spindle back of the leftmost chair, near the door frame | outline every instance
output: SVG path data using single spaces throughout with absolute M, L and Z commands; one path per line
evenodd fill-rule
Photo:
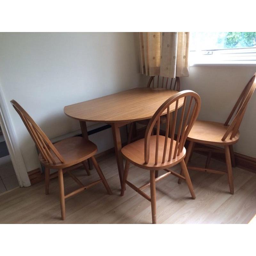
M 36 147 L 41 153 L 44 161 L 49 164 L 56 164 L 56 158 L 54 157 L 55 155 L 61 163 L 64 163 L 63 157 L 53 146 L 52 142 L 48 139 L 41 128 L 36 124 L 36 122 L 28 115 L 28 113 L 20 106 L 19 103 L 17 103 L 15 100 L 11 100 L 11 103 L 14 109 L 18 112 L 26 128 L 28 129 L 28 132 L 34 140 Z

